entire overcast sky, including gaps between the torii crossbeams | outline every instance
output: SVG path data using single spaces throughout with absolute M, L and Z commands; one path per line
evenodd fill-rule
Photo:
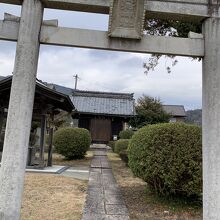
M 20 7 L 0 3 L 4 12 L 20 15 Z M 58 19 L 59 26 L 107 30 L 108 16 L 90 13 L 45 10 L 44 19 Z M 0 75 L 13 71 L 16 44 L 0 41 Z M 201 108 L 202 63 L 177 57 L 178 64 L 168 74 L 170 59 L 162 58 L 155 71 L 144 74 L 148 54 L 109 52 L 68 47 L 41 46 L 37 77 L 67 87 L 74 87 L 74 74 L 80 80 L 78 89 L 134 93 L 159 97 L 164 104 Z

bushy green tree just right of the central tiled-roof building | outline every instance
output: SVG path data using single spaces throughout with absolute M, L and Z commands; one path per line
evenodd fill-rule
M 164 111 L 160 99 L 143 95 L 137 100 L 135 110 L 137 115 L 130 120 L 132 127 L 169 122 L 170 115 Z

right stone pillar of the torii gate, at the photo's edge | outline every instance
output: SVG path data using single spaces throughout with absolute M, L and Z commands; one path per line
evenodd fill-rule
M 220 218 L 220 19 L 203 26 L 203 219 Z

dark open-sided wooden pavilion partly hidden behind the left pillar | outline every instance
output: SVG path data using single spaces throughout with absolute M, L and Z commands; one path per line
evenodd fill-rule
M 9 97 L 11 90 L 12 76 L 0 78 L 0 135 L 4 133 L 5 119 L 7 117 L 7 109 L 9 105 Z M 22 86 L 22 85 L 21 85 Z M 74 105 L 68 95 L 55 91 L 47 87 L 44 83 L 37 80 L 35 99 L 33 107 L 32 121 L 38 123 L 41 127 L 40 132 L 40 149 L 38 158 L 35 157 L 35 148 L 32 146 L 32 133 L 30 135 L 29 155 L 27 164 L 35 165 L 36 167 L 44 167 L 52 165 L 52 137 L 54 117 L 60 112 L 66 111 L 71 113 L 74 110 Z M 49 134 L 48 161 L 45 163 L 45 135 Z M 1 135 L 0 137 L 3 137 Z M 0 140 L 1 141 L 1 140 Z

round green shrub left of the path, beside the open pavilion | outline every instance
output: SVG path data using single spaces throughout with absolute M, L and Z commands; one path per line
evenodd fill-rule
M 91 144 L 91 136 L 83 128 L 61 128 L 54 133 L 53 144 L 56 152 L 67 159 L 83 158 Z

